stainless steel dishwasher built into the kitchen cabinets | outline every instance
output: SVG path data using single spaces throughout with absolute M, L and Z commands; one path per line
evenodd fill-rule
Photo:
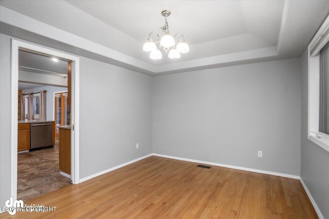
M 31 149 L 52 146 L 52 123 L 31 123 Z

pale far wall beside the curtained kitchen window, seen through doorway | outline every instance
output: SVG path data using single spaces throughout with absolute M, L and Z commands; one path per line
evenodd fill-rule
M 23 90 L 23 93 L 35 93 L 39 92 L 41 90 L 46 90 L 47 91 L 47 97 L 46 97 L 46 119 L 47 120 L 54 120 L 54 96 L 53 94 L 55 92 L 60 92 L 60 91 L 67 91 L 67 88 L 64 87 L 54 87 L 54 86 L 41 86 L 38 88 L 33 88 L 33 89 L 28 89 L 28 90 Z M 25 112 L 27 113 L 27 112 Z

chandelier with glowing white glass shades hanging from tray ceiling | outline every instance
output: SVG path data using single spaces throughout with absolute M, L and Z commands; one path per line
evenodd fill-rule
M 152 59 L 161 59 L 162 54 L 160 49 L 162 48 L 168 53 L 169 58 L 180 58 L 180 53 L 187 53 L 189 51 L 189 45 L 185 42 L 184 36 L 181 33 L 176 33 L 172 36 L 169 32 L 169 26 L 167 22 L 167 17 L 171 14 L 169 10 L 161 11 L 161 15 L 165 17 L 165 26 L 160 27 L 163 32 L 163 35 L 160 39 L 159 34 L 156 32 L 151 32 L 147 41 L 144 43 L 143 50 L 145 52 L 150 52 L 150 58 Z M 151 38 L 151 34 L 156 34 L 158 37 L 155 42 Z M 154 35 L 153 34 L 153 35 Z M 175 37 L 180 35 L 182 38 L 179 43 L 175 41 Z

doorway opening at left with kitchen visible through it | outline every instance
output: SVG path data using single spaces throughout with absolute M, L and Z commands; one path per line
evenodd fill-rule
M 61 141 L 54 136 L 52 99 L 55 92 L 67 93 L 67 79 L 67 61 L 19 51 L 17 200 L 29 201 L 71 184 L 70 175 L 63 176 L 59 167 Z M 71 147 L 70 143 L 66 146 Z M 66 153 L 61 160 L 69 156 Z

